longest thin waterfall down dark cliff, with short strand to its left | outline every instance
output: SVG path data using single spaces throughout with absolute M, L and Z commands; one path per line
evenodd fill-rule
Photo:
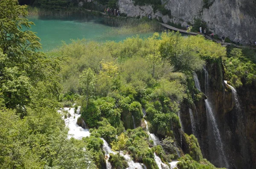
M 209 90 L 209 88 L 208 88 L 208 82 L 209 82 L 208 72 L 205 68 L 203 70 L 204 70 L 205 78 L 207 78 L 207 79 L 205 79 L 205 95 L 209 98 L 209 96 L 208 96 L 208 94 L 209 94 L 208 93 L 208 90 Z M 198 90 L 201 91 L 200 83 L 199 83 L 198 76 L 196 75 L 196 73 L 194 73 L 194 79 L 195 79 L 195 86 L 197 87 Z M 211 124 L 212 130 L 213 130 L 213 131 L 209 131 L 209 132 L 213 132 L 213 135 L 215 138 L 216 149 L 219 154 L 218 155 L 219 161 L 222 162 L 225 165 L 225 167 L 228 167 L 229 163 L 228 163 L 226 155 L 224 153 L 223 143 L 221 141 L 221 135 L 218 130 L 218 124 L 216 123 L 216 120 L 215 120 L 215 117 L 213 114 L 213 108 L 212 108 L 212 105 L 211 105 L 209 99 L 205 99 L 205 105 L 206 105 L 206 113 L 207 113 L 207 123 L 208 123 L 208 125 Z M 208 128 L 208 130 L 209 130 L 209 128 Z

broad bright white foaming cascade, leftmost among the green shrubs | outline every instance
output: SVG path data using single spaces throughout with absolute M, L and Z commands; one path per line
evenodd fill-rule
M 68 138 L 73 137 L 73 138 L 81 140 L 83 137 L 90 136 L 90 132 L 88 129 L 83 129 L 82 127 L 80 127 L 79 125 L 76 124 L 77 119 L 80 117 L 80 115 L 79 115 L 80 109 L 81 109 L 81 107 L 78 107 L 77 114 L 75 114 L 74 108 L 64 107 L 64 110 L 66 110 L 70 114 L 70 117 L 68 116 L 67 118 L 64 118 L 64 116 L 63 116 L 65 125 L 66 125 L 66 127 L 69 128 Z

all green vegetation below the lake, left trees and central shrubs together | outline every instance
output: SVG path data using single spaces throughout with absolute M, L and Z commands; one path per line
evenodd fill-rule
M 234 86 L 255 81 L 254 51 L 234 48 L 226 57 L 220 44 L 174 32 L 122 42 L 82 39 L 44 54 L 38 51 L 39 38 L 28 30 L 33 23 L 26 19 L 26 6 L 2 0 L 0 8 L 3 169 L 105 168 L 101 138 L 115 151 L 109 158 L 113 168 L 127 167 L 125 154 L 148 169 L 158 168 L 154 154 L 169 165 L 182 152 L 177 147 L 180 104 L 197 99 L 193 72 L 223 58 Z M 81 105 L 79 121 L 90 128 L 90 137 L 68 139 L 57 110 L 73 103 L 75 110 Z M 161 138 L 157 145 L 148 132 Z M 195 136 L 182 135 L 187 154 L 178 167 L 215 168 L 203 159 Z

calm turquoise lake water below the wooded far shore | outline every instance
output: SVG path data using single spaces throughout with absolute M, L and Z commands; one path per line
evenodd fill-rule
M 98 42 L 113 40 L 119 42 L 135 34 L 111 35 L 112 27 L 105 24 L 103 17 L 84 16 L 67 18 L 47 18 L 29 16 L 29 21 L 35 23 L 31 31 L 36 32 L 41 39 L 42 51 L 51 51 L 58 48 L 64 42 L 70 43 L 70 39 L 87 39 Z M 149 37 L 153 33 L 140 34 L 141 37 Z

